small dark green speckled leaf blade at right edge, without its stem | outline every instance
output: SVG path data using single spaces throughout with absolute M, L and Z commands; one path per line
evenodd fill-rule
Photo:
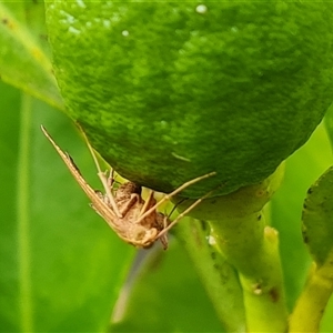
M 333 167 L 309 189 L 302 220 L 304 242 L 322 265 L 333 252 Z

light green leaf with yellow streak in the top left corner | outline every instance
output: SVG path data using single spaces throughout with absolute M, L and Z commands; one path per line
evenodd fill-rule
M 42 4 L 34 6 L 37 13 L 31 6 L 28 8 L 22 7 L 23 4 L 17 2 L 11 8 L 21 20 L 27 17 L 27 20 L 32 18 L 36 21 L 37 14 L 41 14 Z M 44 53 L 46 47 L 42 48 L 36 39 L 37 31 L 40 31 L 38 28 L 40 26 L 34 23 L 30 31 L 6 4 L 0 3 L 1 79 L 58 109 L 63 109 L 50 58 Z M 46 38 L 46 34 L 39 36 Z

